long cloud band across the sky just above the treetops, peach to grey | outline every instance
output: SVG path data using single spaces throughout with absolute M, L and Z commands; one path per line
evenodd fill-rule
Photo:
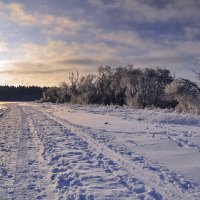
M 119 33 L 119 36 L 121 35 L 122 32 Z M 131 37 L 132 35 L 130 35 Z M 137 48 L 123 47 L 121 44 L 109 46 L 102 42 L 68 44 L 55 40 L 49 40 L 43 45 L 23 44 L 13 51 L 18 59 L 10 61 L 0 73 L 56 75 L 74 69 L 78 69 L 80 72 L 95 72 L 98 66 L 109 64 L 111 66 L 135 64 L 140 67 L 159 65 L 177 69 L 193 65 L 195 58 L 199 57 L 200 42 L 180 42 L 172 49 L 171 46 L 166 47 L 164 44 L 154 44 L 151 40 L 144 41 L 139 36 L 136 38 Z M 117 39 L 117 33 L 115 33 L 114 40 L 118 43 Z M 123 42 L 121 37 L 119 37 L 119 42 Z M 137 53 L 138 51 L 143 51 L 143 53 Z

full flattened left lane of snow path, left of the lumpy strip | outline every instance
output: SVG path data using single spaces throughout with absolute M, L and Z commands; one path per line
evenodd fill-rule
M 42 199 L 51 193 L 41 145 L 30 116 L 21 107 L 9 106 L 1 118 L 0 199 Z M 51 199 L 51 198 L 49 198 Z

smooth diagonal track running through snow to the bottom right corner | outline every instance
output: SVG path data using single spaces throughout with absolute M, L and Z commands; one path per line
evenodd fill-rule
M 160 168 L 160 166 L 157 166 L 157 168 L 153 167 L 153 165 L 147 164 L 148 162 L 144 157 L 142 157 L 144 161 L 139 161 L 141 157 L 136 160 L 129 160 L 117 149 L 112 149 L 105 143 L 98 141 L 92 135 L 89 135 L 88 129 L 84 132 L 83 128 L 77 127 L 68 121 L 58 119 L 44 111 L 43 114 L 57 123 L 62 124 L 64 127 L 68 127 L 71 132 L 86 141 L 99 155 L 107 157 L 111 162 L 114 162 L 118 166 L 117 170 L 125 170 L 129 175 L 121 176 L 121 182 L 128 188 L 130 188 L 131 185 L 131 177 L 139 181 L 142 187 L 138 189 L 138 192 L 141 192 L 142 195 L 138 196 L 138 198 L 198 199 L 199 191 L 197 191 L 196 188 L 193 189 L 192 186 L 190 187 L 189 182 L 182 180 L 182 177 L 179 177 L 171 170 Z M 145 165 L 141 165 L 142 162 L 145 162 Z M 110 164 L 109 167 L 112 168 L 112 164 Z M 111 172 L 114 174 L 117 170 L 114 169 L 111 170 Z M 134 187 L 136 188 L 135 185 Z M 185 187 L 185 190 L 183 187 Z M 137 189 L 135 190 L 135 194 L 137 194 Z

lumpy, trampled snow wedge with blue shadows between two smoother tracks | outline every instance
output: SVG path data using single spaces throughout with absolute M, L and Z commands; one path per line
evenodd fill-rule
M 35 126 L 43 131 L 43 155 L 52 167 L 51 180 L 58 199 L 141 199 L 144 196 L 139 180 L 132 178 L 128 183 L 127 172 L 91 148 L 68 128 L 70 125 L 63 126 L 38 111 L 32 117 Z

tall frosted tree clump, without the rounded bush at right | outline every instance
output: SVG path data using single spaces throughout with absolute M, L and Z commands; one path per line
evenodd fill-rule
M 80 104 L 128 105 L 135 108 L 168 107 L 164 89 L 173 80 L 166 69 L 137 69 L 133 66 L 99 67 L 98 75 L 69 75 L 70 85 L 62 83 L 44 93 L 45 101 Z

